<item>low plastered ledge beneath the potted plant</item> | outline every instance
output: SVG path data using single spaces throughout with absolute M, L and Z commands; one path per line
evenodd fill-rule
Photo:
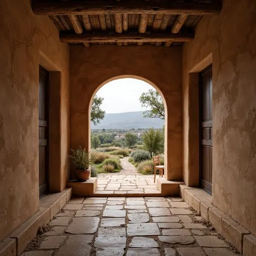
M 72 187 L 72 195 L 74 196 L 91 197 L 97 189 L 97 178 L 90 178 L 84 182 L 69 181 L 68 187 Z

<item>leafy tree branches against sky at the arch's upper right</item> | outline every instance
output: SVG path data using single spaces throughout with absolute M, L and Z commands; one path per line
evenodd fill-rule
M 148 90 L 140 95 L 139 100 L 142 107 L 150 108 L 143 112 L 144 117 L 164 119 L 164 104 L 158 91 Z

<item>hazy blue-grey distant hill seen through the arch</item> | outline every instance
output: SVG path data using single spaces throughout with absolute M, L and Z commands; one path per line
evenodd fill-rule
M 143 111 L 105 114 L 97 125 L 91 123 L 91 129 L 138 129 L 162 128 L 164 120 L 159 118 L 144 118 Z

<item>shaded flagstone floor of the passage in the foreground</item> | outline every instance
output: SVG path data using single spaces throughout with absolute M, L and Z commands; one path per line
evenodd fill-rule
M 75 198 L 50 226 L 23 256 L 236 255 L 181 198 Z

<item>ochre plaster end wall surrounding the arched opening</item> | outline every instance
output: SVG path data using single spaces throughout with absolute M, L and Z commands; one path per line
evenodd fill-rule
M 166 101 L 166 178 L 180 180 L 182 167 L 181 48 L 152 46 L 70 47 L 70 145 L 89 147 L 90 101 L 100 84 L 133 75 L 155 84 Z M 113 92 L 115 93 L 115 92 Z M 124 92 L 125 93 L 125 92 Z M 118 95 L 117 95 L 118 97 Z M 115 102 L 113 102 L 115 104 Z M 116 106 L 118 112 L 118 106 Z

